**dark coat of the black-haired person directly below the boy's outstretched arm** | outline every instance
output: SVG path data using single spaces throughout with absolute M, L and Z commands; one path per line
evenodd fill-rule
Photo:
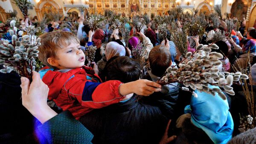
M 93 144 L 157 144 L 167 125 L 158 107 L 136 98 L 95 109 L 79 121 L 93 133 Z

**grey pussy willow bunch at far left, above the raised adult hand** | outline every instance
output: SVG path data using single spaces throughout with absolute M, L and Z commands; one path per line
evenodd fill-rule
M 10 22 L 12 43 L 7 40 L 0 41 L 0 65 L 3 65 L 1 73 L 10 73 L 15 70 L 20 76 L 32 80 L 32 71 L 37 65 L 35 58 L 38 57 L 38 46 L 41 45 L 40 38 L 34 35 L 17 36 L 15 20 Z M 23 33 L 23 31 L 21 31 Z M 20 31 L 19 31 L 20 33 Z M 20 34 L 18 34 L 20 35 Z

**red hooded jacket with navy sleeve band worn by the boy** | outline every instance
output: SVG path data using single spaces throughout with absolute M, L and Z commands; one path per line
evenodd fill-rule
M 69 110 L 76 119 L 95 108 L 118 103 L 125 97 L 119 93 L 120 81 L 101 83 L 99 76 L 87 66 L 66 72 L 45 67 L 39 73 L 49 87 L 48 99 L 63 110 Z

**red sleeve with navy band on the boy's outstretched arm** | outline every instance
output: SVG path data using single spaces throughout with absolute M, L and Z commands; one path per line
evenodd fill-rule
M 65 90 L 68 83 L 64 85 Z M 116 80 L 98 83 L 80 79 L 72 82 L 67 91 L 69 96 L 77 99 L 84 107 L 102 108 L 118 103 L 125 97 L 119 94 L 120 84 L 122 82 Z

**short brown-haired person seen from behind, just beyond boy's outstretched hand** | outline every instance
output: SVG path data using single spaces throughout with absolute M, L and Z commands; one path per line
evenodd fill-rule
M 148 71 L 145 79 L 156 82 L 163 76 L 166 69 L 172 65 L 172 56 L 169 49 L 164 45 L 157 45 L 150 51 L 148 61 L 151 70 Z M 160 107 L 160 110 L 168 119 L 173 119 L 179 93 L 178 86 L 177 82 L 172 83 L 172 85 L 164 85 L 159 93 L 145 97 L 143 101 Z

